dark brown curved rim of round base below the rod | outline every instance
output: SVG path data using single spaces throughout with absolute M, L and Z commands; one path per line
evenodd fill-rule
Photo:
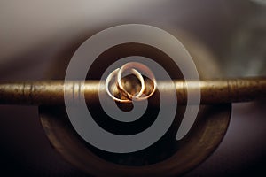
M 201 106 L 190 133 L 176 142 L 176 152 L 158 163 L 141 166 L 119 165 L 99 158 L 74 131 L 64 108 L 40 107 L 39 111 L 55 150 L 84 172 L 93 176 L 176 176 L 199 165 L 222 142 L 231 117 L 231 104 Z M 168 152 L 167 147 L 172 144 L 169 142 L 161 155 Z

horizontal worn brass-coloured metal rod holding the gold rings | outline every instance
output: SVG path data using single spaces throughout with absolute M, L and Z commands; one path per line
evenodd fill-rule
M 170 83 L 171 81 L 157 81 L 157 89 L 168 93 L 171 90 Z M 200 82 L 176 80 L 174 84 L 178 104 L 186 104 L 187 90 L 194 89 L 200 89 L 200 104 L 246 102 L 266 97 L 266 78 L 206 80 Z M 151 89 L 153 86 L 147 82 L 145 87 Z M 113 93 L 116 91 L 113 90 Z M 104 81 L 0 82 L 0 104 L 65 104 L 64 93 L 69 93 L 69 97 L 72 97 L 76 102 L 84 97 L 86 102 L 93 104 L 98 103 L 99 92 L 106 92 Z M 158 104 L 156 99 L 155 101 L 154 99 L 151 100 L 152 104 Z

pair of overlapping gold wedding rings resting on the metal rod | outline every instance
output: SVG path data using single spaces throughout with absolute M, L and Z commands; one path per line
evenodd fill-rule
M 145 95 L 145 79 L 143 78 L 142 74 L 139 73 L 145 73 L 145 75 L 153 81 L 153 90 L 146 96 Z M 127 91 L 124 86 L 121 83 L 121 79 L 123 76 L 123 73 L 129 72 L 128 74 L 134 74 L 137 79 L 140 81 L 141 89 L 138 91 L 137 94 L 132 95 Z M 126 99 L 121 99 L 116 96 L 113 96 L 113 94 L 110 92 L 109 85 L 112 79 L 115 77 L 115 86 L 120 91 L 122 96 L 125 96 Z M 155 80 L 153 72 L 146 66 L 141 63 L 137 62 L 129 62 L 125 65 L 122 65 L 121 68 L 115 69 L 112 73 L 108 75 L 106 78 L 106 92 L 109 96 L 113 98 L 114 101 L 120 102 L 120 103 L 131 103 L 132 101 L 141 101 L 148 99 L 150 96 L 153 96 L 153 93 L 156 90 L 157 82 Z

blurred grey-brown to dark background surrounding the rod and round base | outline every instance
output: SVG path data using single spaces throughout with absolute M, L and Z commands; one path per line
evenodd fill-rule
M 0 0 L 0 80 L 46 79 L 57 58 L 72 54 L 69 46 L 126 23 L 181 36 L 211 58 L 219 72 L 209 78 L 265 76 L 265 21 L 264 0 Z M 265 101 L 233 104 L 223 142 L 185 176 L 265 175 L 265 110 Z M 0 120 L 1 173 L 86 176 L 51 148 L 37 107 L 1 105 Z

